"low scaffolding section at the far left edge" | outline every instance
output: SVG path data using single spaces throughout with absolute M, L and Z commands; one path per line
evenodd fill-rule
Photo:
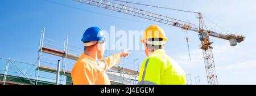
M 29 69 L 27 69 L 29 68 Z M 34 85 L 36 80 L 36 63 L 25 63 L 11 58 L 0 58 L 0 84 L 1 85 Z M 54 76 L 54 75 L 53 75 Z M 53 78 L 39 76 L 38 85 L 54 84 Z

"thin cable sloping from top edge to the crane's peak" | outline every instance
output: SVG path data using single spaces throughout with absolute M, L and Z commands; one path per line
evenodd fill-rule
M 175 8 L 168 8 L 168 7 L 161 7 L 161 6 L 146 5 L 146 4 L 143 4 L 143 3 L 135 3 L 135 2 L 121 1 L 121 0 L 113 0 L 113 1 L 119 1 L 119 2 L 125 2 L 125 3 L 132 3 L 132 4 L 135 4 L 135 5 L 143 5 L 143 6 L 150 6 L 150 7 L 156 7 L 156 8 L 164 8 L 164 9 L 175 10 L 175 11 L 191 12 L 191 13 L 194 13 L 194 14 L 199 14 L 199 13 L 200 13 L 200 12 L 195 12 L 195 11 L 178 10 L 178 9 L 175 9 Z

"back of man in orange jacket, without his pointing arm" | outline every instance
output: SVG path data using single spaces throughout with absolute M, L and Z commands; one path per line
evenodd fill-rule
M 100 68 L 98 63 L 89 56 L 82 54 L 79 60 L 72 68 L 72 80 L 75 85 L 93 85 L 107 84 L 110 85 L 108 75 L 105 68 Z

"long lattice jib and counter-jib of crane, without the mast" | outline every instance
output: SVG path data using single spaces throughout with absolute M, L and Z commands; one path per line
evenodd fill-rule
M 103 0 L 73 0 L 73 1 L 77 1 L 80 3 L 86 3 L 86 4 L 92 5 L 92 6 L 106 8 L 108 10 L 122 12 L 123 14 L 129 14 L 129 15 L 137 16 L 139 18 L 153 20 L 153 21 L 157 21 L 159 23 L 172 25 L 175 27 L 179 27 L 181 29 L 192 30 L 194 32 L 200 33 L 199 27 L 197 27 L 197 25 L 195 25 L 195 24 L 188 23 L 187 21 L 170 18 L 168 16 L 163 16 L 163 15 L 155 14 L 152 12 L 144 11 L 144 10 L 141 10 L 138 8 L 121 5 L 121 4 L 106 1 L 106 0 L 104 0 L 104 1 Z M 236 39 L 236 41 L 239 43 L 242 42 L 243 40 L 245 40 L 245 37 L 236 36 L 234 34 L 222 34 L 222 33 L 213 32 L 212 30 L 207 30 L 206 32 L 209 33 L 209 36 L 222 38 L 224 40 Z

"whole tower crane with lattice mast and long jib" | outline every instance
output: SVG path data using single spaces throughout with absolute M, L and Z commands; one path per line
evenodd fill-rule
M 222 33 L 214 32 L 212 30 L 208 30 L 204 23 L 203 15 L 201 14 L 201 12 L 196 12 L 196 14 L 198 14 L 199 16 L 199 26 L 197 26 L 196 24 L 192 24 L 187 21 L 170 18 L 168 16 L 155 14 L 153 12 L 122 5 L 112 1 L 107 1 L 107 0 L 73 0 L 73 1 L 96 6 L 96 7 L 106 8 L 108 10 L 121 12 L 123 14 L 137 16 L 139 18 L 144 18 L 144 19 L 156 21 L 159 23 L 171 25 L 174 27 L 179 27 L 184 30 L 192 30 L 193 32 L 197 32 L 199 34 L 199 40 L 201 41 L 200 49 L 203 50 L 205 70 L 207 72 L 207 80 L 209 85 L 218 84 L 218 79 L 216 75 L 215 64 L 214 64 L 214 59 L 212 54 L 213 47 L 211 46 L 213 42 L 210 42 L 209 36 L 221 38 L 223 40 L 228 40 L 230 42 L 230 46 L 236 46 L 237 42 L 240 43 L 243 40 L 245 40 L 244 36 L 235 35 L 235 34 L 222 34 Z

